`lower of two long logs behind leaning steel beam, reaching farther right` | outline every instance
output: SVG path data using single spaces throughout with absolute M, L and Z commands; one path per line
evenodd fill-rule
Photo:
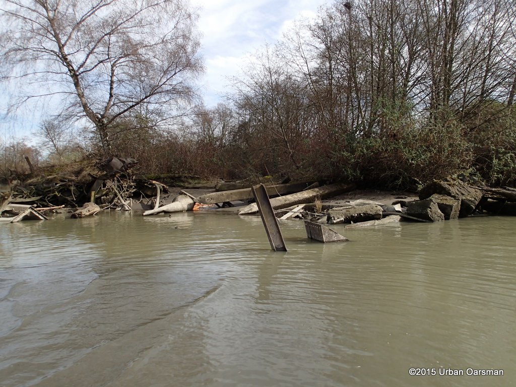
M 270 204 L 274 209 L 289 207 L 295 204 L 303 204 L 315 199 L 328 198 L 339 193 L 351 191 L 356 187 L 354 183 L 335 183 L 324 187 L 313 188 L 306 191 L 292 193 L 291 195 L 281 196 L 279 198 L 270 199 Z M 249 204 L 238 212 L 238 215 L 255 214 L 258 212 L 256 203 Z

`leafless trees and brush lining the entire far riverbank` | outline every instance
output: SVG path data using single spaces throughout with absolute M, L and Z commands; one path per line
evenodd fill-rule
M 63 87 L 52 92 L 63 110 L 40 124 L 41 147 L 0 142 L 4 183 L 45 207 L 93 201 L 95 181 L 105 205 L 183 176 L 411 192 L 446 176 L 516 184 L 510 0 L 337 0 L 257 52 L 215 107 L 196 94 L 201 40 L 181 2 L 6 3 L 2 81 Z M 22 94 L 9 110 L 33 95 Z M 102 169 L 113 155 L 138 160 L 141 177 Z

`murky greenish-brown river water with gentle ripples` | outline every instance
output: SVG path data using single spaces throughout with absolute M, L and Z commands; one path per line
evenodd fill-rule
M 515 218 L 281 228 L 286 253 L 255 216 L 0 224 L 0 385 L 516 385 Z

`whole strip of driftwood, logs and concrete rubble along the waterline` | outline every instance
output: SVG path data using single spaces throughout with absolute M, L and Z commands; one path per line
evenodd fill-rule
M 142 212 L 143 216 L 184 211 L 256 214 L 259 209 L 251 187 L 257 184 L 265 186 L 276 217 L 320 224 L 352 227 L 399 220 L 436 222 L 480 214 L 516 215 L 515 188 L 488 187 L 464 174 L 433 180 L 417 194 L 391 191 L 378 197 L 374 190 L 365 190 L 358 198 L 356 183 L 279 182 L 272 176 L 240 182 L 188 182 L 183 176 L 181 189 L 135 175 L 132 168 L 138 164 L 133 158 L 112 157 L 100 165 L 83 161 L 79 169 L 68 166 L 66 173 L 42 173 L 25 181 L 11 181 L 12 186 L 0 198 L 0 219 L 43 220 L 52 213 L 83 218 L 109 209 Z

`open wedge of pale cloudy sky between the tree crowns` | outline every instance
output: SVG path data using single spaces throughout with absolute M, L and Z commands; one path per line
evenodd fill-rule
M 238 75 L 246 56 L 274 44 L 296 19 L 314 17 L 330 0 L 190 0 L 198 7 L 206 72 L 201 92 L 206 106 L 220 101 L 227 77 Z

